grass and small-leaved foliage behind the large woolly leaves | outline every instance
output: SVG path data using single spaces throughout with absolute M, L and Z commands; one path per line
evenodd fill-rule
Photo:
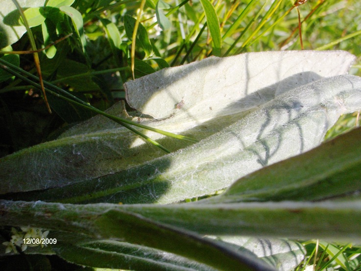
M 0 11 L 13 5 L 11 1 L 5 3 Z M 293 1 L 214 1 L 217 16 L 209 3 L 145 2 L 136 38 L 136 78 L 212 54 L 301 49 Z M 39 53 L 43 78 L 101 110 L 124 99 L 122 85 L 132 79 L 130 50 L 140 5 L 140 1 L 132 0 L 49 0 L 47 7 L 28 11 L 34 19 L 29 24 L 37 48 L 72 33 L 55 47 Z M 357 56 L 351 74 L 361 75 L 360 10 L 357 0 L 310 0 L 300 5 L 304 48 L 347 50 Z M 10 7 L 10 11 L 11 14 L 4 14 L 3 22 L 19 26 L 16 7 Z M 1 38 L 0 42 L 4 50 L 30 49 L 27 35 L 6 42 Z M 32 54 L 3 57 L 36 74 Z M 54 139 L 68 127 L 93 116 L 90 111 L 51 96 L 48 101 L 54 112 L 48 114 L 41 96 L 39 90 L 0 70 L 0 156 Z M 357 113 L 343 116 L 327 137 L 358 122 Z M 330 265 L 360 269 L 359 262 L 351 260 L 359 248 L 322 243 L 320 250 L 327 253 L 317 254 L 314 242 L 305 244 L 309 259 L 313 260 L 314 255 L 320 267 L 328 257 L 326 263 Z M 331 248 L 338 252 L 332 254 Z

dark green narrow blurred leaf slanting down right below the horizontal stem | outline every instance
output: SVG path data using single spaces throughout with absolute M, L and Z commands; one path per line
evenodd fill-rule
M 273 270 L 258 259 L 234 251 L 220 242 L 212 242 L 193 232 L 153 222 L 136 214 L 110 210 L 96 219 L 95 225 L 107 231 L 110 237 L 125 237 L 127 242 L 163 249 L 221 270 Z

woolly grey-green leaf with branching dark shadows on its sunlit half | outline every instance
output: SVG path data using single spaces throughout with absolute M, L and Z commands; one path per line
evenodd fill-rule
M 361 99 L 360 77 L 321 79 L 277 96 L 188 148 L 37 196 L 50 200 L 64 194 L 69 202 L 170 203 L 210 194 L 317 146 L 340 114 L 360 107 L 350 97 Z

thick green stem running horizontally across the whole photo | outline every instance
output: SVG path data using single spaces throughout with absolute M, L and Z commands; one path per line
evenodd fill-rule
M 79 244 L 80 242 L 84 244 L 86 238 L 93 241 L 99 238 L 116 237 L 120 241 L 145 246 L 136 239 L 150 235 L 147 234 L 148 231 L 145 228 L 144 231 L 137 231 L 142 226 L 147 227 L 147 222 L 150 222 L 149 227 L 152 231 L 158 226 L 170 225 L 173 229 L 192 231 L 200 235 L 333 239 L 343 242 L 361 240 L 361 200 L 352 197 L 350 200 L 323 202 L 207 204 L 206 201 L 203 203 L 202 201 L 197 204 L 120 205 L 62 204 L 1 199 L 0 225 L 31 225 L 50 229 L 51 232 L 54 229 L 72 234 L 81 233 L 83 236 L 79 236 L 81 237 Z M 133 225 L 137 225 L 137 228 L 133 228 Z M 168 228 L 168 230 L 171 229 Z M 137 236 L 140 232 L 142 236 Z M 64 238 L 63 240 L 66 241 Z M 75 238 L 69 239 L 68 236 L 68 242 L 76 244 L 75 241 Z M 160 238 L 156 242 L 161 242 Z M 174 245 L 174 242 L 172 244 Z M 176 252 L 173 251 L 173 253 Z

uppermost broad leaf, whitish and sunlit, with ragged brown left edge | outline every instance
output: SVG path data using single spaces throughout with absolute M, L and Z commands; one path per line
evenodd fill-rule
M 354 59 L 344 51 L 255 52 L 208 57 L 127 82 L 127 101 L 155 119 L 184 112 L 183 122 L 209 120 L 232 115 L 234 111 L 246 112 L 322 77 L 347 74 Z M 184 105 L 180 110 L 175 105 L 182 99 Z

